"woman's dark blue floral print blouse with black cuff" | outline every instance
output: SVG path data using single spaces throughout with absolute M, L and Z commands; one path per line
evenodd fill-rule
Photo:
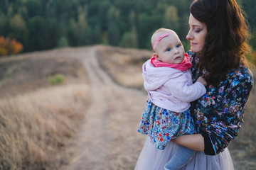
M 188 55 L 193 64 L 191 72 L 194 83 L 201 76 L 196 69 L 198 57 L 191 51 Z M 241 65 L 239 69 L 230 70 L 226 79 L 220 81 L 218 86 L 206 86 L 206 94 L 191 103 L 191 115 L 195 120 L 196 128 L 210 139 L 208 141 L 215 152 L 213 154 L 222 152 L 230 140 L 238 135 L 252 84 L 252 72 Z M 205 135 L 203 137 L 206 141 Z

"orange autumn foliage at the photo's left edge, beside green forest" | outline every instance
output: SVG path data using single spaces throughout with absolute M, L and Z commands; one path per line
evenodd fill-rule
M 0 56 L 15 55 L 21 50 L 23 50 L 23 45 L 20 42 L 0 36 Z

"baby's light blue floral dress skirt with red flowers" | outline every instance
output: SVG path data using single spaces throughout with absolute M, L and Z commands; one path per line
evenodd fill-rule
M 164 149 L 180 135 L 196 134 L 196 128 L 189 109 L 182 113 L 169 111 L 147 97 L 138 132 L 148 135 L 157 149 Z

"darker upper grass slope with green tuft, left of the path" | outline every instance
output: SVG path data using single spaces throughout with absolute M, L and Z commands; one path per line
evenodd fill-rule
M 68 52 L 67 52 L 68 53 Z M 57 75 L 61 75 L 56 77 Z M 0 95 L 26 94 L 51 84 L 85 82 L 85 69 L 61 51 L 33 52 L 0 59 Z M 53 77 L 50 81 L 49 77 Z

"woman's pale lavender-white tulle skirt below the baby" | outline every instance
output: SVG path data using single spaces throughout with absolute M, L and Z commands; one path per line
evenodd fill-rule
M 156 149 L 151 144 L 150 138 L 146 137 L 146 142 L 139 154 L 139 159 L 135 170 L 163 170 L 166 162 L 171 159 L 176 152 L 178 145 L 169 142 L 164 150 Z M 196 152 L 191 162 L 183 166 L 180 170 L 234 170 L 230 152 L 226 148 L 215 156 L 206 155 L 203 152 Z

